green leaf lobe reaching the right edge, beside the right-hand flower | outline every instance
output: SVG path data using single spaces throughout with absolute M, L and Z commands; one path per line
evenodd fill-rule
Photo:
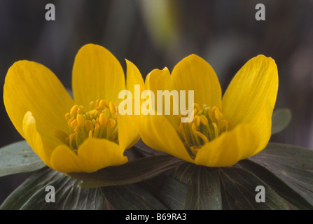
M 313 205 L 313 151 L 286 144 L 267 144 L 249 160 L 265 167 Z M 286 192 L 283 192 L 286 194 Z

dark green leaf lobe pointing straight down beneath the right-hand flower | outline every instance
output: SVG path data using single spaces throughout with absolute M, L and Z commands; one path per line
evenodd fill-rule
M 195 166 L 191 174 L 184 209 L 222 209 L 220 180 L 216 168 Z

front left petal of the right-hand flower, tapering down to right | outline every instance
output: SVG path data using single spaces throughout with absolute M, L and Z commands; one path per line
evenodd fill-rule
M 147 146 L 174 155 L 176 158 L 193 162 L 176 130 L 165 116 L 141 116 L 139 133 Z

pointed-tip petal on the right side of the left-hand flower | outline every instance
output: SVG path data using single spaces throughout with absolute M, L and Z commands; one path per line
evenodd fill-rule
M 122 148 L 130 148 L 139 140 L 139 118 L 141 109 L 141 92 L 144 91 L 144 79 L 140 71 L 132 62 L 126 60 L 127 64 L 127 90 L 132 93 L 133 110 L 132 115 L 120 115 L 118 113 L 118 143 Z M 135 89 L 139 85 L 140 89 Z M 136 91 L 135 91 L 136 90 Z M 138 111 L 135 111 L 137 109 Z M 136 113 L 135 113 L 136 112 Z M 137 114 L 137 112 L 139 112 Z

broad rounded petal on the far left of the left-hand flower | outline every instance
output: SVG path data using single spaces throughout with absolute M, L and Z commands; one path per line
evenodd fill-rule
M 55 74 L 36 62 L 15 62 L 6 75 L 4 105 L 13 125 L 22 137 L 22 121 L 32 111 L 39 132 L 53 136 L 53 130 L 67 130 L 64 114 L 73 100 Z M 53 141 L 53 140 L 52 140 Z

